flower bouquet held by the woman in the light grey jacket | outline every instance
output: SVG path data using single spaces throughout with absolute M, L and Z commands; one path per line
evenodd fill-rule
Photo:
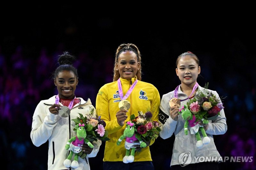
M 195 97 L 190 99 L 187 106 L 192 114 L 195 115 L 196 120 L 215 120 L 220 111 L 224 108 L 222 99 L 225 97 L 218 98 L 208 91 L 209 83 L 206 83 L 204 90 L 197 91 Z

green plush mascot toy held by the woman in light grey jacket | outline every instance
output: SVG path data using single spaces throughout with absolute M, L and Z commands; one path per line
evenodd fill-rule
M 210 143 L 210 138 L 206 135 L 204 128 L 199 127 L 199 124 L 196 121 L 195 115 L 190 112 L 187 105 L 182 106 L 182 109 L 179 111 L 179 114 L 181 114 L 181 117 L 185 120 L 185 124 L 184 124 L 185 135 L 188 135 L 188 125 L 190 126 L 190 133 L 196 134 L 197 148 L 202 148 L 204 144 Z M 209 123 L 209 121 L 204 119 L 203 123 L 207 124 Z M 203 134 L 203 137 L 204 137 L 203 141 L 201 140 L 198 129 L 200 129 L 200 131 Z

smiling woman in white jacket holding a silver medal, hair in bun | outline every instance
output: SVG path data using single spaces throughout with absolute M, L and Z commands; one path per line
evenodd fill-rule
M 75 96 L 78 84 L 78 74 L 72 65 L 75 57 L 68 52 L 60 55 L 58 62 L 60 66 L 53 74 L 54 84 L 58 89 L 58 95 L 48 100 L 42 100 L 37 105 L 33 115 L 31 140 L 35 146 L 40 146 L 49 141 L 48 149 L 48 169 L 67 169 L 63 165 L 68 157 L 69 151 L 65 149 L 68 140 L 76 135 L 73 131 L 74 121 L 79 117 L 78 113 L 88 115 L 94 109 L 90 99 L 84 101 L 83 98 Z M 96 115 L 95 109 L 94 114 Z M 93 142 L 93 148 L 83 144 L 82 151 L 87 154 L 86 158 L 78 158 L 79 169 L 90 169 L 89 159 L 95 157 L 99 151 L 101 141 Z M 72 166 L 72 165 L 71 165 Z M 71 169 L 73 169 L 71 167 Z

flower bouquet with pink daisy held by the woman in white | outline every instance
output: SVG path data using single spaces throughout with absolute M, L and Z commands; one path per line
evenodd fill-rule
M 97 141 L 100 139 L 101 141 L 108 141 L 109 138 L 108 132 L 105 131 L 106 122 L 104 120 L 100 119 L 100 116 L 94 114 L 94 108 L 90 109 L 90 112 L 88 115 L 84 116 L 81 113 L 78 113 L 79 117 L 77 119 L 72 119 L 75 122 L 75 125 L 84 124 L 84 129 L 86 130 L 86 139 L 88 139 L 90 142 Z M 76 129 L 73 129 L 76 131 Z M 86 157 L 86 153 L 83 151 L 79 152 L 78 155 L 81 158 Z

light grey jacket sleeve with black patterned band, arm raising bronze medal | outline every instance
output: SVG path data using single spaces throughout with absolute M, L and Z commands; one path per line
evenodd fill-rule
M 159 119 L 161 119 L 159 121 L 160 129 L 161 129 L 159 135 L 163 139 L 167 139 L 172 136 L 173 132 L 175 131 L 177 122 L 178 122 L 171 118 L 169 110 L 170 110 L 169 98 L 166 94 L 166 95 L 163 95 L 163 97 L 162 97 L 162 100 L 160 103 L 160 111 L 159 111 L 160 112 Z

